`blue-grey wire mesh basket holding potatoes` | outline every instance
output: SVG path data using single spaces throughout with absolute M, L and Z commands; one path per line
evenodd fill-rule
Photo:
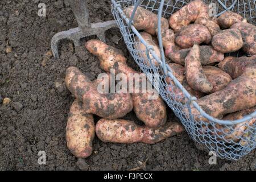
M 158 88 L 160 96 L 166 101 L 168 106 L 179 117 L 190 137 L 197 143 L 201 143 L 209 151 L 216 152 L 222 159 L 238 160 L 248 154 L 256 147 L 256 111 L 246 113 L 241 119 L 236 121 L 220 120 L 213 118 L 197 104 L 196 98 L 185 90 L 183 85 L 172 74 L 172 69 L 166 64 L 165 59 L 158 57 L 150 45 L 142 38 L 140 32 L 133 26 L 132 21 L 126 18 L 123 9 L 128 6 L 141 6 L 144 9 L 169 18 L 181 7 L 186 5 L 189 0 L 112 0 L 112 13 L 123 35 L 123 39 L 133 56 L 136 63 L 146 74 L 157 74 L 159 79 L 154 76 L 148 77 L 155 88 Z M 233 11 L 243 15 L 249 23 L 255 25 L 256 1 L 255 0 L 218 0 L 205 1 L 207 4 L 215 3 L 217 8 L 216 16 L 225 11 Z M 160 15 L 159 15 L 160 14 Z M 159 21 L 160 22 L 160 21 Z M 160 27 L 160 23 L 158 24 Z M 139 44 L 144 44 L 146 51 L 140 49 Z M 160 39 L 159 46 L 162 47 Z M 147 60 L 142 55 L 147 55 Z M 151 54 L 151 56 L 149 56 Z M 164 57 L 164 56 L 161 56 Z M 159 64 L 152 63 L 156 60 Z M 173 81 L 168 82 L 170 78 Z M 179 88 L 183 94 L 173 92 L 174 88 Z M 199 114 L 192 114 L 191 109 L 196 109 Z

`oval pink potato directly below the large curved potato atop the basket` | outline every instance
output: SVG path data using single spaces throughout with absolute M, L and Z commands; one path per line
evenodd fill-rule
M 212 35 L 207 27 L 201 24 L 190 24 L 176 33 L 175 43 L 181 48 L 192 47 L 193 44 L 210 43 Z

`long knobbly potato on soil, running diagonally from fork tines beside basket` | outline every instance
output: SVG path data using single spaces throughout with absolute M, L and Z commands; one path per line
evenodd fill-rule
M 113 51 L 113 55 L 115 56 L 106 56 L 106 51 L 104 50 L 113 48 L 101 42 L 100 40 L 89 40 L 86 42 L 85 47 L 89 52 L 93 53 L 93 55 L 96 55 L 98 59 L 100 59 L 101 68 L 106 72 L 110 72 L 110 69 L 114 69 L 116 74 L 125 74 L 127 80 L 129 80 L 130 73 L 138 75 L 140 74 L 134 71 L 132 68 L 128 67 L 125 57 L 122 56 L 122 54 L 118 54 L 120 51 Z M 118 59 L 115 59 L 115 57 L 118 57 Z M 122 59 L 120 57 L 122 57 Z M 143 74 L 142 77 L 146 77 L 146 75 Z M 131 94 L 131 97 L 134 101 L 133 109 L 137 117 L 141 119 L 141 121 L 144 122 L 148 127 L 158 127 L 164 125 L 164 123 L 166 123 L 167 112 L 162 98 L 160 98 L 158 95 L 155 100 L 150 100 L 150 96 L 152 96 L 151 93 L 141 93 L 136 89 L 134 89 L 134 91 L 135 92 Z

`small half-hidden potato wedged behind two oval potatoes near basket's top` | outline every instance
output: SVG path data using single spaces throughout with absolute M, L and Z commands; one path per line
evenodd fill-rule
M 201 25 L 207 27 L 210 32 L 210 35 L 212 35 L 212 37 L 221 31 L 220 26 L 218 26 L 217 23 L 215 23 L 213 20 L 208 19 L 208 18 L 204 18 L 204 17 L 198 18 L 198 19 L 196 19 L 195 23 L 201 24 Z

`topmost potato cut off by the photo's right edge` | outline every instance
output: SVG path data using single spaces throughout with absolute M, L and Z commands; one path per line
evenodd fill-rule
M 231 27 L 241 32 L 243 39 L 243 51 L 249 55 L 256 55 L 256 26 L 250 23 L 236 23 Z

